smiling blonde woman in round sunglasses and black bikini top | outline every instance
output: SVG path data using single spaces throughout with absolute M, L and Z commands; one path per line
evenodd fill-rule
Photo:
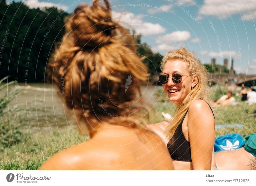
M 208 105 L 208 72 L 185 48 L 164 56 L 159 82 L 167 97 L 177 105 L 168 123 L 149 126 L 166 144 L 175 170 L 211 170 L 215 119 Z

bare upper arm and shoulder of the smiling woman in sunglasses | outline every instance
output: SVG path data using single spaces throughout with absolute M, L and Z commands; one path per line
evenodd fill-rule
M 209 105 L 203 100 L 191 103 L 187 123 L 193 170 L 211 170 L 215 120 Z

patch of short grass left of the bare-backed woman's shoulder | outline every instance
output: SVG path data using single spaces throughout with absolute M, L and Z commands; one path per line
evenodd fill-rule
M 52 136 L 56 140 L 54 143 Z M 88 137 L 80 135 L 76 128 L 55 131 L 53 135 L 46 133 L 42 136 L 30 136 L 26 142 L 12 145 L 0 153 L 3 158 L 0 161 L 0 170 L 37 170 L 56 152 L 87 140 Z

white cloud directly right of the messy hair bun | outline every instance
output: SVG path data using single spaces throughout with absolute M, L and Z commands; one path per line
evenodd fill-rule
M 160 24 L 143 22 L 142 15 L 134 15 L 131 12 L 121 13 L 112 11 L 112 17 L 124 27 L 134 29 L 137 34 L 156 35 L 166 31 L 166 28 L 162 27 Z

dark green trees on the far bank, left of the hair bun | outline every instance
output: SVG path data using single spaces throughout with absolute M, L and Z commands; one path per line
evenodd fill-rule
M 54 7 L 29 9 L 22 2 L 7 6 L 1 1 L 0 7 L 0 41 L 6 40 L 0 78 L 9 75 L 9 81 L 16 77 L 25 82 L 44 81 L 46 63 L 54 43 L 64 35 L 64 17 L 68 13 Z

